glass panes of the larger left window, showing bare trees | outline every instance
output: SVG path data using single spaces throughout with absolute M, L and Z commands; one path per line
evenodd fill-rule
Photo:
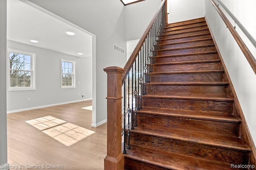
M 31 87 L 31 56 L 9 53 L 10 87 Z

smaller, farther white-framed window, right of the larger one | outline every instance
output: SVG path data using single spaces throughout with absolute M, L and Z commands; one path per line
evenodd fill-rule
M 61 59 L 61 88 L 76 88 L 75 61 Z

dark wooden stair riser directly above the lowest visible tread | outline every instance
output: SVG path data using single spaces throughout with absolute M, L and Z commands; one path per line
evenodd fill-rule
M 246 164 L 248 163 L 248 153 L 242 151 L 231 150 L 228 148 L 220 148 L 194 142 L 186 142 L 170 138 L 160 138 L 156 136 L 148 136 L 144 134 L 133 133 L 130 131 L 130 144 L 148 146 L 165 150 L 166 152 L 174 152 L 178 154 L 186 154 L 198 158 L 216 160 L 230 164 Z

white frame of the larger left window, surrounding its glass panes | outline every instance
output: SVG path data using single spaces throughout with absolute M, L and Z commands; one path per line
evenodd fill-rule
M 31 69 L 31 81 L 30 87 L 10 87 L 10 52 L 19 53 L 24 55 L 30 55 L 30 69 Z M 23 91 L 23 90 L 36 90 L 36 53 L 30 53 L 17 49 L 8 48 L 7 50 L 7 88 L 8 91 Z

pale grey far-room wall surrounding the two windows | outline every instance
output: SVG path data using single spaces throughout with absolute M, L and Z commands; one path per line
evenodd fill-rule
M 36 90 L 7 91 L 9 113 L 92 98 L 92 57 L 76 57 L 13 41 L 7 41 L 7 47 L 36 53 Z M 61 89 L 61 58 L 76 61 L 74 89 Z M 85 94 L 85 98 L 82 98 L 82 94 Z

